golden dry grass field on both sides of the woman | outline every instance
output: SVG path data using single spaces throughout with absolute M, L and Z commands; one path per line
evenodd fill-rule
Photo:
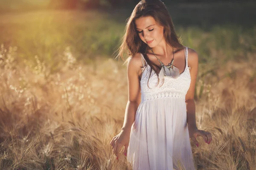
M 17 63 L 16 50 L 0 53 L 0 169 L 131 169 L 109 145 L 122 127 L 125 66 L 80 65 L 67 48 L 49 74 L 39 59 Z M 197 124 L 213 136 L 192 144 L 199 170 L 256 169 L 256 59 L 247 55 L 198 80 Z

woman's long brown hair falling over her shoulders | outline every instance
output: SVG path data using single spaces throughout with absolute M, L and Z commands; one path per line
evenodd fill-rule
M 174 24 L 172 22 L 172 17 L 169 14 L 166 5 L 161 0 L 141 0 L 134 8 L 131 16 L 126 20 L 125 34 L 122 37 L 121 45 L 118 49 L 117 57 L 124 60 L 124 53 L 128 54 L 129 58 L 133 57 L 136 53 L 142 53 L 145 61 L 157 74 L 157 70 L 153 65 L 158 68 L 153 62 L 148 59 L 146 54 L 150 47 L 143 42 L 136 30 L 135 20 L 140 17 L 151 16 L 160 25 L 163 26 L 163 34 L 165 41 L 173 48 L 182 49 L 184 46 L 181 44 L 179 37 L 175 33 Z M 116 58 L 117 58 L 116 57 Z M 128 59 L 129 59 L 128 58 Z M 125 63 L 128 62 L 125 60 Z M 150 76 L 149 76 L 150 77 Z

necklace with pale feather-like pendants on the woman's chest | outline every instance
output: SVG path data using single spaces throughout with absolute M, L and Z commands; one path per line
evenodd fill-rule
M 152 48 L 150 48 L 150 49 L 154 54 L 154 51 L 152 50 Z M 156 54 L 154 54 L 154 56 L 157 57 L 157 60 L 160 62 L 161 66 L 162 66 L 162 68 L 161 68 L 161 70 L 158 74 L 159 79 L 163 79 L 164 76 L 169 76 L 169 77 L 173 77 L 173 78 L 176 79 L 180 75 L 179 69 L 173 65 L 173 62 L 174 62 L 174 49 L 173 49 L 173 47 L 172 47 L 172 52 L 173 52 L 172 61 L 167 66 L 164 65 L 163 62 L 160 61 L 160 59 L 158 59 Z

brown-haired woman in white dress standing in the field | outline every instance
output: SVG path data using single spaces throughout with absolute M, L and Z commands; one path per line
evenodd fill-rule
M 128 103 L 121 132 L 110 143 L 116 159 L 124 146 L 134 170 L 194 170 L 189 137 L 197 147 L 197 136 L 212 140 L 195 121 L 198 54 L 180 43 L 160 0 L 141 0 L 134 8 L 119 56 L 124 51 L 130 56 Z

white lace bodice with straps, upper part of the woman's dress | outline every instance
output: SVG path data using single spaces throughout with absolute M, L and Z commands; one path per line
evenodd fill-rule
M 186 93 L 189 89 L 191 77 L 188 67 L 188 48 L 185 47 L 185 60 L 186 67 L 185 70 L 174 79 L 173 77 L 165 76 L 164 79 L 159 79 L 157 74 L 152 70 L 151 75 L 151 67 L 145 61 L 143 54 L 140 54 L 143 62 L 143 72 L 140 80 L 141 87 L 141 101 L 145 100 L 154 100 L 157 98 L 167 98 L 167 97 L 175 97 L 185 100 Z M 144 63 L 145 61 L 145 63 Z M 150 78 L 148 80 L 148 77 Z

